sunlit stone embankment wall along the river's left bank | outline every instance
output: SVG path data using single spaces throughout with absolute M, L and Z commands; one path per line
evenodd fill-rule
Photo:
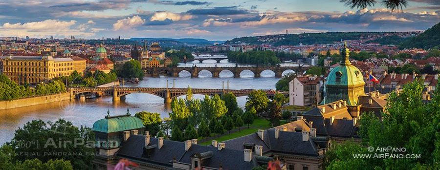
M 0 110 L 18 108 L 25 106 L 42 105 L 52 102 L 59 102 L 63 100 L 70 100 L 70 93 L 52 94 L 46 96 L 22 98 L 13 101 L 0 101 Z

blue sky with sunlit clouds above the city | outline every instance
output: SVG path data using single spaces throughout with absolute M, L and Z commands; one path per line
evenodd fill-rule
M 440 0 L 408 1 L 403 12 L 391 12 L 339 0 L 0 0 L 0 37 L 229 40 L 286 29 L 414 31 L 440 21 Z

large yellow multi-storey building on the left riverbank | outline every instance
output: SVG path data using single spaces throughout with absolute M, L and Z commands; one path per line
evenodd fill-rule
M 16 83 L 37 84 L 60 76 L 69 76 L 74 70 L 83 73 L 86 60 L 45 56 L 7 56 L 3 59 L 3 73 Z

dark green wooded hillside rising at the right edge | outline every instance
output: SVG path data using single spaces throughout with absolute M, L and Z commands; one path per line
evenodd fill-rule
M 435 46 L 440 47 L 440 22 L 420 35 L 404 41 L 399 47 L 429 49 Z

